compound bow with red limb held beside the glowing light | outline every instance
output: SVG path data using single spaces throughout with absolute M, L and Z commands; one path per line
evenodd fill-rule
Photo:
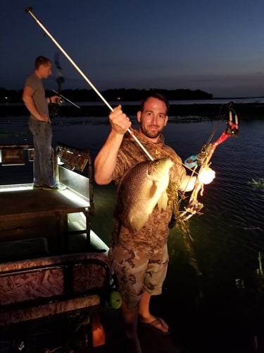
M 208 142 L 203 145 L 203 148 L 201 148 L 201 151 L 198 153 L 198 155 L 192 155 L 189 157 L 187 160 L 184 161 L 184 164 L 191 168 L 193 172 L 196 172 L 196 169 L 199 167 L 199 172 L 198 177 L 196 179 L 196 183 L 194 185 L 194 189 L 191 193 L 191 197 L 189 199 L 189 205 L 187 205 L 187 208 L 180 214 L 179 217 L 182 217 L 182 220 L 189 220 L 189 218 L 196 213 L 199 213 L 199 211 L 203 208 L 203 203 L 198 201 L 198 194 L 199 191 L 201 191 L 201 196 L 203 195 L 203 183 L 199 181 L 199 175 L 206 169 L 208 169 L 210 165 L 210 160 L 213 156 L 213 153 L 215 152 L 215 149 L 220 145 L 220 143 L 225 142 L 227 138 L 230 137 L 236 137 L 238 134 L 238 118 L 236 112 L 234 112 L 234 109 L 232 108 L 232 102 L 227 104 L 227 109 L 229 111 L 229 121 L 227 121 L 227 128 L 225 131 L 221 134 L 221 136 L 215 140 L 215 142 L 210 143 L 210 140 L 212 140 L 215 131 L 211 134 Z M 234 122 L 233 122 L 234 119 Z

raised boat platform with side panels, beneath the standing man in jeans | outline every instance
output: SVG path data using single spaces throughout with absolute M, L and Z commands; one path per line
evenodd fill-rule
M 26 164 L 26 155 L 29 161 L 34 160 L 32 145 L 0 145 L 0 149 L 1 167 L 11 174 L 12 167 Z M 56 181 L 67 186 L 65 191 L 34 190 L 32 184 L 0 186 L 4 205 L 0 209 L 0 261 L 1 244 L 24 239 L 46 239 L 50 255 L 69 253 L 73 237 L 75 244 L 82 242 L 82 251 L 92 251 L 91 234 L 95 234 L 90 229 L 94 203 L 89 151 L 59 144 L 53 166 Z

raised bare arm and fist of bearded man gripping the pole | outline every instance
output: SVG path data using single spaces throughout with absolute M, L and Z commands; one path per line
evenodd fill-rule
M 110 113 L 109 121 L 111 132 L 94 161 L 94 180 L 100 185 L 112 181 L 118 150 L 127 129 L 131 126 L 130 119 L 122 112 L 120 105 Z

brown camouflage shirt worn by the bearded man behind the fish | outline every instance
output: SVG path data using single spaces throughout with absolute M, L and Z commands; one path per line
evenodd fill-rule
M 134 133 L 137 133 L 136 131 Z M 133 249 L 153 249 L 166 244 L 169 234 L 169 222 L 172 216 L 173 201 L 177 199 L 177 186 L 186 175 L 186 170 L 182 167 L 182 160 L 168 145 L 165 145 L 163 136 L 160 137 L 158 143 L 150 143 L 137 133 L 137 139 L 142 143 L 146 151 L 149 152 L 153 159 L 170 157 L 173 166 L 170 168 L 170 183 L 167 189 L 168 207 L 166 210 L 158 210 L 158 206 L 153 209 L 153 213 L 149 216 L 149 220 L 144 227 L 138 232 L 131 233 L 129 229 L 124 227 L 117 217 L 114 217 L 113 228 L 113 246 L 121 245 L 125 248 Z M 144 150 L 138 145 L 137 141 L 127 133 L 118 152 L 118 160 L 113 174 L 113 180 L 118 186 L 122 181 L 123 175 L 135 164 L 148 161 L 149 157 Z

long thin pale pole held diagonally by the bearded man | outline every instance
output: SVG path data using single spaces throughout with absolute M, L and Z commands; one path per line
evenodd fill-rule
M 34 20 L 37 22 L 37 24 L 39 25 L 40 28 L 42 28 L 42 30 L 44 30 L 44 32 L 46 33 L 46 35 L 48 35 L 52 42 L 54 42 L 54 44 L 56 44 L 56 46 L 58 47 L 58 49 L 61 50 L 61 52 L 66 56 L 66 58 L 68 59 L 68 61 L 70 61 L 70 64 L 72 64 L 76 70 L 80 73 L 80 75 L 84 78 L 84 80 L 87 81 L 87 83 L 92 87 L 92 89 L 94 90 L 94 92 L 96 92 L 97 95 L 99 95 L 99 97 L 101 98 L 101 100 L 106 104 L 106 106 L 111 110 L 111 112 L 113 112 L 113 108 L 111 107 L 111 105 L 107 102 L 107 100 L 103 97 L 103 95 L 101 95 L 101 93 L 99 92 L 99 90 L 97 90 L 97 88 L 93 85 L 93 83 L 87 78 L 87 76 L 84 75 L 83 71 L 75 64 L 75 62 L 73 61 L 73 59 L 70 58 L 70 56 L 65 52 L 65 50 L 61 47 L 60 44 L 58 44 L 58 42 L 55 40 L 54 37 L 52 37 L 51 33 L 46 30 L 46 28 L 44 27 L 44 25 L 42 25 L 42 23 L 40 22 L 40 20 L 37 19 L 36 16 L 34 16 L 34 13 L 32 13 L 32 7 L 27 7 L 25 8 L 25 11 L 27 13 L 30 14 L 30 16 L 32 16 L 32 18 L 34 18 Z M 146 153 L 146 155 L 149 157 L 150 160 L 153 160 L 153 157 L 151 157 L 151 155 L 149 154 L 149 152 L 146 150 L 146 148 L 144 148 L 144 145 L 142 145 L 142 143 L 138 140 L 137 136 L 134 136 L 133 131 L 130 128 L 127 128 L 127 131 L 130 133 L 130 135 L 132 136 L 132 138 L 134 138 L 134 140 L 137 142 L 137 144 L 142 148 L 142 150 L 144 150 L 144 152 Z

